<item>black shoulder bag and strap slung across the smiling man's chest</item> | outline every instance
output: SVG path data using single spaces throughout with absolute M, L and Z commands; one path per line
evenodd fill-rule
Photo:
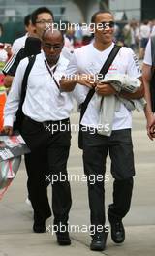
M 114 48 L 112 48 L 112 50 L 110 51 L 109 57 L 107 58 L 105 64 L 103 65 L 102 69 L 99 72 L 99 74 L 102 74 L 103 79 L 104 79 L 106 73 L 109 71 L 109 67 L 110 67 L 111 63 L 113 62 L 113 60 L 114 60 L 115 56 L 117 55 L 120 48 L 121 48 L 120 46 L 115 45 Z M 82 119 L 94 93 L 95 93 L 95 88 L 92 88 L 88 92 L 84 102 L 80 105 L 79 132 L 78 132 L 78 147 L 80 149 L 83 149 L 82 125 L 80 124 L 80 122 L 81 122 L 81 119 Z

